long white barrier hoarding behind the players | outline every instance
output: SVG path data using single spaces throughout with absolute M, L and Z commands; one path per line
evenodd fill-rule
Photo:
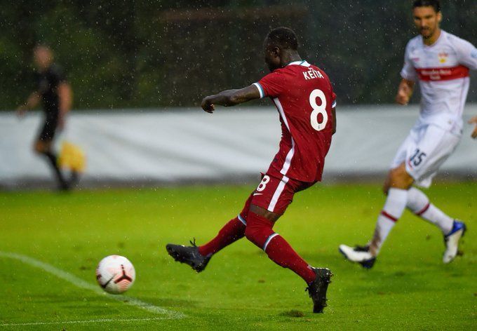
M 417 106 L 337 107 L 337 133 L 325 161 L 325 176 L 384 173 L 417 119 Z M 477 114 L 467 105 L 464 120 Z M 0 113 L 0 181 L 51 178 L 47 164 L 32 152 L 41 112 L 18 119 Z M 464 125 L 457 151 L 443 172 L 477 173 L 477 141 Z M 271 107 L 129 109 L 123 112 L 72 112 L 59 139 L 86 152 L 84 180 L 220 180 L 267 170 L 280 140 L 278 112 Z

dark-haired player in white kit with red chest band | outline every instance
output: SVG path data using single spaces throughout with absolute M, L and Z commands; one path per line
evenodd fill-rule
M 344 257 L 368 269 L 406 207 L 441 229 L 445 241 L 444 263 L 456 257 L 459 240 L 466 231 L 464 222 L 445 215 L 412 185 L 429 187 L 439 167 L 459 144 L 469 69 L 477 69 L 477 49 L 439 28 L 442 15 L 438 0 L 414 1 L 412 11 L 419 36 L 406 46 L 396 102 L 408 104 L 415 81 L 419 81 L 422 94 L 419 119 L 391 163 L 384 183 L 387 200 L 371 241 L 354 248 L 340 245 Z M 469 123 L 477 123 L 477 119 Z M 473 137 L 474 134 L 477 137 L 477 128 Z

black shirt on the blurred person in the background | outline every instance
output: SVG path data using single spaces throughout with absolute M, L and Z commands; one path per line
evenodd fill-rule
M 58 86 L 66 80 L 61 67 L 54 63 L 44 72 L 36 72 L 36 86 L 46 115 L 58 115 Z

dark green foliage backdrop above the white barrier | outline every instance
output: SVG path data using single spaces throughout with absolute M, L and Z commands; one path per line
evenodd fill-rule
M 476 7 L 444 1 L 443 28 L 475 44 Z M 0 109 L 32 90 L 36 43 L 55 50 L 76 108 L 196 106 L 266 74 L 262 41 L 283 25 L 332 78 L 340 103 L 392 102 L 415 34 L 410 1 L 384 0 L 20 0 L 1 6 L 0 21 Z

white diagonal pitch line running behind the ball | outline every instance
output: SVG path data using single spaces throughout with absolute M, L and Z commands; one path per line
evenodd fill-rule
M 28 264 L 29 266 L 34 266 L 36 268 L 43 269 L 44 271 L 51 273 L 52 275 L 57 276 L 58 278 L 61 278 L 62 280 L 67 281 L 68 283 L 72 283 L 72 285 L 76 286 L 77 288 L 83 288 L 85 290 L 93 291 L 97 295 L 101 295 L 102 297 L 107 297 L 108 299 L 120 301 L 130 306 L 135 306 L 140 309 L 144 309 L 145 311 L 149 311 L 150 313 L 158 313 L 161 315 L 166 315 L 170 319 L 178 319 L 178 318 L 186 317 L 183 313 L 163 309 L 160 306 L 154 306 L 154 304 L 149 304 L 147 302 L 143 302 L 140 299 L 135 299 L 133 297 L 127 297 L 126 295 L 108 295 L 106 292 L 101 290 L 99 286 L 90 284 L 87 281 L 83 281 L 83 279 L 78 278 L 72 275 L 71 273 L 62 271 L 61 269 L 58 269 L 55 266 L 52 266 L 51 264 L 41 262 L 38 259 L 28 257 L 27 255 L 0 251 L 0 257 L 16 259 L 20 262 Z

